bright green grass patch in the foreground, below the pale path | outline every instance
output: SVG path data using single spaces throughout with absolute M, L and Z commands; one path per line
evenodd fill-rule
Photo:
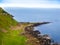
M 8 34 L 4 35 L 3 44 L 4 45 L 26 45 L 26 37 L 19 35 L 19 31 L 11 31 Z

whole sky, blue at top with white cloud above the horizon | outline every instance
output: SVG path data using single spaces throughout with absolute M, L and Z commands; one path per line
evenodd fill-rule
M 60 8 L 60 0 L 0 0 L 0 7 Z

